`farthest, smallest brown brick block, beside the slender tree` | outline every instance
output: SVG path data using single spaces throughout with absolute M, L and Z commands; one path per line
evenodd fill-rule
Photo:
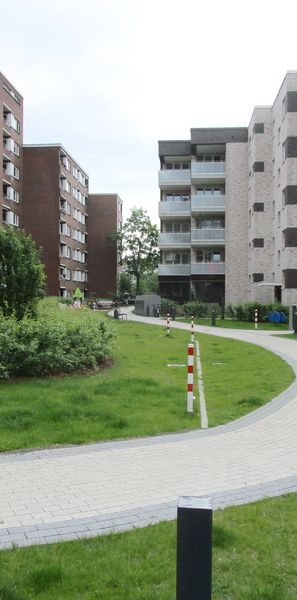
M 122 221 L 123 202 L 117 194 L 89 194 L 89 291 L 96 297 L 110 298 L 117 291 L 119 257 L 110 234 L 121 230 Z

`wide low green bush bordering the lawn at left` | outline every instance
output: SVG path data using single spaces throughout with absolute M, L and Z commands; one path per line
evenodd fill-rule
M 112 325 L 89 311 L 73 317 L 63 311 L 37 320 L 0 318 L 0 378 L 73 373 L 102 364 L 112 352 Z

